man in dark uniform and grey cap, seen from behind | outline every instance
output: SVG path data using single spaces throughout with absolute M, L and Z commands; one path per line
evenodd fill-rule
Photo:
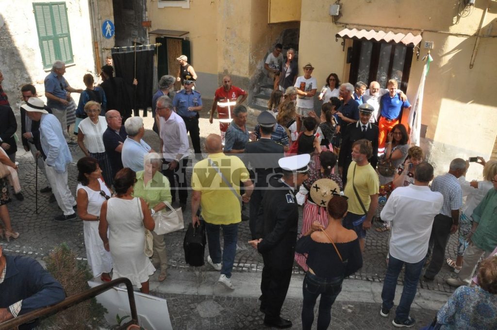
M 267 190 L 269 178 L 276 173 L 278 160 L 283 158 L 283 145 L 271 140 L 271 134 L 276 124 L 276 118 L 268 112 L 262 111 L 257 117 L 259 123 L 260 139 L 248 142 L 245 147 L 246 165 L 250 165 L 250 178 L 255 182 L 255 189 L 250 198 L 250 212 L 248 227 L 252 239 L 256 239 L 255 223 L 259 212 L 260 203 Z

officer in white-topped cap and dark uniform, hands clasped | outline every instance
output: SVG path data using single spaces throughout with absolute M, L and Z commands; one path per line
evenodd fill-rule
M 280 179 L 269 181 L 257 220 L 258 240 L 248 243 L 262 254 L 264 268 L 260 290 L 260 311 L 265 314 L 264 325 L 279 329 L 290 328 L 292 322 L 280 316 L 292 276 L 299 210 L 295 193 L 307 178 L 309 154 L 285 157 L 278 164 L 283 171 Z

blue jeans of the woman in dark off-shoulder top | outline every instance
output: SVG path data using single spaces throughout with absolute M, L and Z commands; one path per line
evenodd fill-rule
M 343 277 L 333 277 L 331 279 L 322 278 L 306 273 L 302 292 L 304 301 L 302 304 L 302 329 L 311 329 L 314 322 L 314 306 L 316 299 L 321 295 L 318 312 L 318 330 L 328 329 L 331 322 L 331 306 L 341 291 Z

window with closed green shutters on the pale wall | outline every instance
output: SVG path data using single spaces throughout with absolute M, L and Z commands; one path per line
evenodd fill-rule
M 45 69 L 56 60 L 73 63 L 73 48 L 65 2 L 33 3 L 41 58 Z

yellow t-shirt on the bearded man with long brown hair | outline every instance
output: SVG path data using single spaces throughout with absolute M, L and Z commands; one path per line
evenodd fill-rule
M 371 195 L 377 194 L 380 191 L 380 180 L 373 166 L 370 164 L 359 166 L 355 162 L 350 163 L 347 171 L 347 184 L 343 194 L 348 197 L 348 212 L 355 214 L 364 214 L 364 210 L 357 200 L 354 188 L 352 187 L 352 177 L 355 168 L 354 185 L 359 197 L 361 198 L 366 211 L 371 203 Z

